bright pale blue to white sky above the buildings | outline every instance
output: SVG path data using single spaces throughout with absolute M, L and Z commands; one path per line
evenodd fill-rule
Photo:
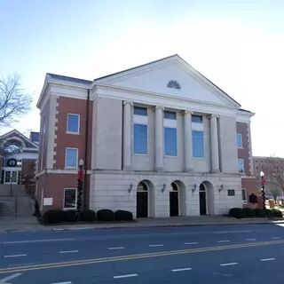
M 253 154 L 284 156 L 284 1 L 0 0 L 0 11 L 0 75 L 18 72 L 34 105 L 47 72 L 93 79 L 178 53 L 256 112 Z M 39 130 L 36 107 L 16 126 Z

